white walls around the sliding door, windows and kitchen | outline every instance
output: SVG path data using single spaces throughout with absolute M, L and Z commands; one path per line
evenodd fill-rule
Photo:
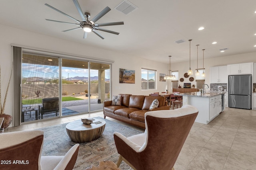
M 57 39 L 54 37 L 17 29 L 14 27 L 8 27 L 0 25 L 0 66 L 1 66 L 1 90 L 2 90 L 2 102 L 4 101 L 4 94 L 7 88 L 11 65 L 12 65 L 12 48 L 11 44 L 24 45 L 28 47 L 34 47 L 36 49 L 45 49 L 46 51 L 56 51 L 62 53 L 69 53 L 72 55 L 84 56 L 84 51 L 87 51 L 86 56 L 89 58 L 102 58 L 115 61 L 112 64 L 112 95 L 120 93 L 135 94 L 135 95 L 148 95 L 153 92 L 163 92 L 166 89 L 170 90 L 170 83 L 159 82 L 160 73 L 168 73 L 168 63 L 158 63 L 155 61 L 145 60 L 142 58 L 135 58 L 133 56 L 127 56 L 115 51 L 108 51 L 106 49 L 99 49 L 97 47 L 89 47 L 88 45 L 82 45 L 74 43 L 72 41 L 66 41 L 64 39 Z M 99 40 L 100 41 L 100 40 Z M 205 53 L 206 56 L 206 53 Z M 206 68 L 206 84 L 210 84 L 210 67 L 234 63 L 247 63 L 256 62 L 256 53 L 246 53 L 240 55 L 232 55 L 221 58 L 212 58 L 204 60 L 204 67 Z M 119 84 L 119 68 L 125 68 L 129 70 L 135 70 L 135 84 Z M 157 90 L 141 90 L 141 68 L 150 68 L 157 70 Z M 189 62 L 172 63 L 172 70 L 179 71 L 179 78 L 183 77 L 183 74 L 188 71 Z M 196 61 L 191 61 L 191 68 L 193 72 L 196 69 Z M 198 68 L 202 68 L 202 60 L 198 61 Z M 195 76 L 193 76 L 195 77 Z M 185 78 L 184 82 L 189 82 L 188 78 Z M 179 82 L 182 84 L 184 82 Z M 192 82 L 195 84 L 195 82 Z M 8 98 L 6 101 L 5 113 L 12 115 L 12 100 L 13 96 L 13 84 L 11 82 Z

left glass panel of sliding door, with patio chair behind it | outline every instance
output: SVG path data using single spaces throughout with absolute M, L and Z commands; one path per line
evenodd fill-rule
M 22 54 L 21 122 L 59 115 L 58 61 L 49 56 Z M 50 99 L 54 102 L 49 103 Z

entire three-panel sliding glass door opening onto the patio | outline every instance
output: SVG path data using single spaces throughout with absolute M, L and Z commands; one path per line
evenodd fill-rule
M 21 123 L 102 110 L 110 64 L 23 52 L 21 91 Z

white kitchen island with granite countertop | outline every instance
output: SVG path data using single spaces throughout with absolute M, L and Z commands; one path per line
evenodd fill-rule
M 190 92 L 174 95 L 182 96 L 183 105 L 189 104 L 198 109 L 195 122 L 208 124 L 222 111 L 221 93 Z

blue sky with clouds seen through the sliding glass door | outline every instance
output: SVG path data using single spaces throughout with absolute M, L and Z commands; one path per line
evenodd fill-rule
M 59 76 L 58 66 L 22 63 L 22 77 L 52 78 Z M 62 67 L 62 77 L 88 77 L 88 69 Z M 98 76 L 98 70 L 90 70 L 90 76 Z M 105 70 L 105 78 L 110 78 L 110 70 Z

